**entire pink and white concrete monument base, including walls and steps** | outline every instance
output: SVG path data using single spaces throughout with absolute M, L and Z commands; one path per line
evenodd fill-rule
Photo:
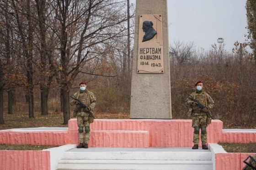
M 76 149 L 76 119 L 69 120 L 68 128 L 0 130 L 0 144 L 59 146 L 43 151 L 0 150 L 0 170 L 84 170 L 86 166 L 91 170 L 199 170 L 204 165 L 207 168 L 202 170 L 241 170 L 243 160 L 256 154 L 225 152 L 218 142 L 256 142 L 256 129 L 222 129 L 220 120 L 207 127 L 209 150 L 192 150 L 191 124 L 192 120 L 96 119 L 90 126 L 89 149 Z

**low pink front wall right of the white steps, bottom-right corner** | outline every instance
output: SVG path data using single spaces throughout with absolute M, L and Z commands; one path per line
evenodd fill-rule
M 248 155 L 253 156 L 256 155 L 256 153 L 215 154 L 215 170 L 241 170 L 245 167 L 245 163 L 243 163 L 243 161 Z

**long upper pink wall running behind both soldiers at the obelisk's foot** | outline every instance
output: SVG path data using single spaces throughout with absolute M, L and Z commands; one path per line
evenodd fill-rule
M 192 120 L 95 119 L 90 127 L 89 144 L 93 147 L 192 147 L 193 128 L 191 124 Z M 256 142 L 256 133 L 224 132 L 222 127 L 222 121 L 212 121 L 212 124 L 207 127 L 208 143 Z M 142 131 L 148 131 L 149 134 Z M 117 142 L 112 140 L 115 136 L 122 136 L 122 138 L 119 138 Z M 136 140 L 133 140 L 131 136 Z M 141 144 L 141 141 L 145 142 Z M 77 121 L 75 118 L 70 119 L 67 131 L 0 131 L 0 144 L 52 146 L 78 144 Z

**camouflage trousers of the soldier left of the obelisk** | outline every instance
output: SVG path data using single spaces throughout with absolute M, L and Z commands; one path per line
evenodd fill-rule
M 90 129 L 90 123 L 89 123 L 89 116 L 77 116 L 77 126 L 78 127 L 85 127 L 88 126 Z M 78 139 L 79 139 L 79 143 L 85 143 L 88 144 L 89 139 L 91 136 L 91 132 L 89 131 L 89 133 L 78 133 Z M 85 142 L 84 142 L 85 139 Z

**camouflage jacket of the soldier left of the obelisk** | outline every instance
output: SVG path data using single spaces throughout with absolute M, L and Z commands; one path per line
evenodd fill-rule
M 78 96 L 79 94 L 79 96 Z M 97 101 L 95 95 L 90 92 L 89 90 L 85 89 L 84 91 L 78 91 L 74 94 L 75 98 L 80 99 L 82 103 L 84 103 L 86 106 L 89 106 L 91 109 L 95 108 Z M 71 99 L 70 105 L 73 106 L 75 104 L 75 100 Z M 78 111 L 79 103 L 75 104 L 74 113 L 77 113 L 77 116 L 88 116 L 89 113 L 85 112 L 84 108 L 81 108 L 80 112 Z

